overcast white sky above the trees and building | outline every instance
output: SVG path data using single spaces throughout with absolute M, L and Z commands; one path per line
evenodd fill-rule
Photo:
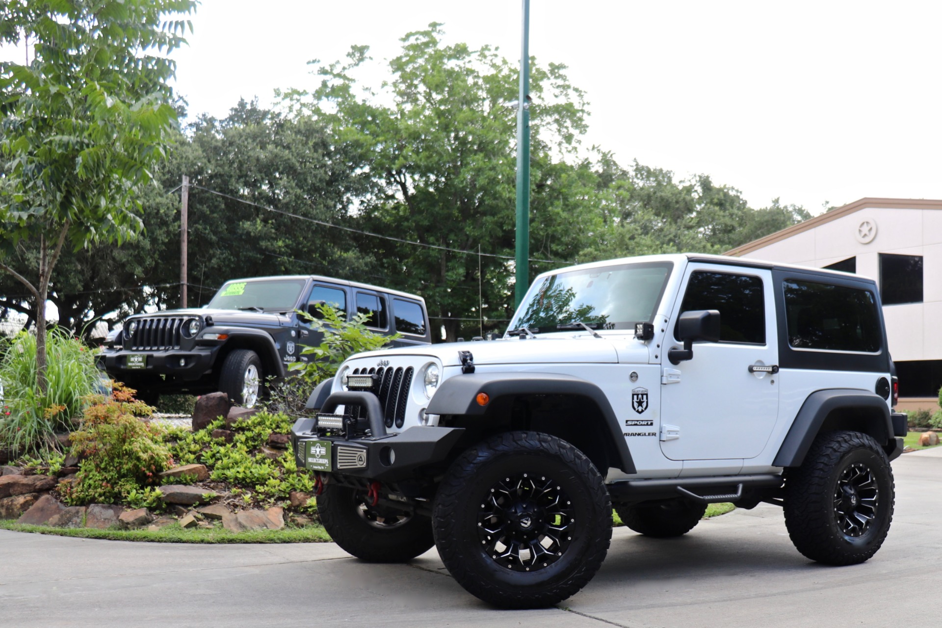
M 570 67 L 591 103 L 586 143 L 625 165 L 707 173 L 755 207 L 781 197 L 815 214 L 942 198 L 942 3 L 531 4 L 530 54 Z M 451 42 L 520 51 L 517 0 L 203 0 L 193 21 L 176 55 L 191 114 L 269 105 L 276 88 L 315 85 L 307 60 L 354 43 L 389 58 L 432 21 Z

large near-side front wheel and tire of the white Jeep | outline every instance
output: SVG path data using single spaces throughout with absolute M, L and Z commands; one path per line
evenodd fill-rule
M 488 529 L 501 525 L 497 515 L 513 522 L 501 528 L 515 526 L 512 532 Z M 611 501 L 602 475 L 572 444 L 507 432 L 452 463 L 435 496 L 432 527 L 448 572 L 468 592 L 495 606 L 538 608 L 570 597 L 598 571 L 611 540 Z M 508 540 L 503 556 L 500 539 Z M 514 542 L 528 545 L 514 556 Z

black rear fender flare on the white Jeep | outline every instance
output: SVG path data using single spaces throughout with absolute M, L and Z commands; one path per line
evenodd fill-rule
M 872 418 L 870 421 L 873 422 L 876 433 L 868 432 L 870 436 L 873 436 L 881 445 L 893 442 L 893 424 L 886 400 L 882 396 L 854 388 L 815 391 L 805 398 L 772 465 L 776 467 L 801 466 L 808 449 L 811 448 L 811 443 L 818 437 L 824 420 L 836 410 L 866 411 L 871 417 L 875 416 L 875 421 Z

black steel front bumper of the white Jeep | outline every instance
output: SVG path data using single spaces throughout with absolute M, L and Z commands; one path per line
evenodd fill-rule
M 310 468 L 304 456 L 305 443 L 328 441 L 333 444 L 329 473 L 382 482 L 408 478 L 417 467 L 447 459 L 464 433 L 463 427 L 415 426 L 378 437 L 347 439 L 342 436 L 319 436 L 316 425 L 315 418 L 300 418 L 291 428 L 291 447 L 299 467 Z M 354 452 L 365 454 L 363 466 L 340 467 L 341 457 L 348 465 L 358 464 Z

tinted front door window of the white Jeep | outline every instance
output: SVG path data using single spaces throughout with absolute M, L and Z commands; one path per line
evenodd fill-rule
M 721 343 L 765 344 L 765 298 L 758 277 L 702 270 L 690 273 L 680 312 L 694 310 L 720 312 Z

